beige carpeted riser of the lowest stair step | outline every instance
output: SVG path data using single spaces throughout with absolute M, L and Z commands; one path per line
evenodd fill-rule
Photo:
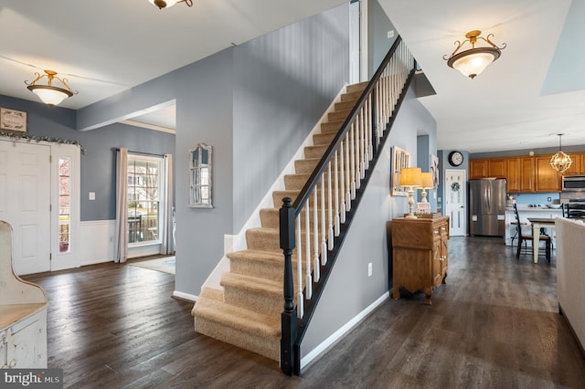
M 207 319 L 199 317 L 195 319 L 195 331 L 218 341 L 233 344 L 242 349 L 250 350 L 250 352 L 256 352 L 273 361 L 280 361 L 280 339 L 262 338 L 257 335 L 242 333 L 223 323 L 207 321 Z

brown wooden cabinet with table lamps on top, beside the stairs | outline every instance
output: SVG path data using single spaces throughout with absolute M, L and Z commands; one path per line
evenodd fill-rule
M 449 216 L 397 218 L 391 222 L 392 297 L 400 288 L 422 290 L 431 305 L 432 289 L 445 283 L 449 265 Z

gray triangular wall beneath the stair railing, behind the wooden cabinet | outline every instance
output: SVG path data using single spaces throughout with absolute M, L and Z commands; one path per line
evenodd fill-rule
M 303 357 L 388 290 L 386 224 L 392 218 L 402 216 L 408 207 L 407 197 L 390 195 L 390 148 L 398 145 L 407 150 L 411 162 L 416 163 L 417 129 L 430 134 L 429 147 L 436 151 L 436 122 L 410 87 L 305 335 L 301 350 Z M 370 262 L 373 273 L 367 277 Z M 385 303 L 395 302 L 388 300 Z

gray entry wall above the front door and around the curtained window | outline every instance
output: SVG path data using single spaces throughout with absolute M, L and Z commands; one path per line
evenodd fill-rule
M 115 149 L 126 147 L 134 152 L 175 153 L 175 135 L 124 124 L 112 124 L 99 131 L 76 131 L 76 111 L 48 107 L 35 101 L 0 95 L 0 106 L 27 111 L 30 136 L 80 142 L 81 221 L 115 219 Z M 88 193 L 95 192 L 90 201 Z

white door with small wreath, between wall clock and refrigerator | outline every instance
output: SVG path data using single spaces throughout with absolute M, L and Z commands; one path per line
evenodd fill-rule
M 445 215 L 449 216 L 451 226 L 449 235 L 463 237 L 466 235 L 465 202 L 467 199 L 466 174 L 461 169 L 445 170 Z

